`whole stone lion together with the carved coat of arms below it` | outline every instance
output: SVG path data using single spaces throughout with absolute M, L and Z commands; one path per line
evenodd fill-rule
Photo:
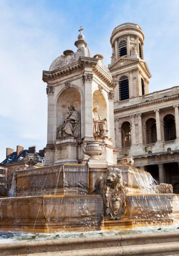
M 103 196 L 104 214 L 110 219 L 118 220 L 125 214 L 126 195 L 120 169 L 109 167 L 105 176 L 97 179 L 94 193 Z

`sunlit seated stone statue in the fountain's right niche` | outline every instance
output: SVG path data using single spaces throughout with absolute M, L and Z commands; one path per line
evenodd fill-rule
M 93 136 L 107 137 L 107 130 L 105 126 L 106 118 L 101 119 L 98 115 L 99 106 L 95 105 L 93 108 Z

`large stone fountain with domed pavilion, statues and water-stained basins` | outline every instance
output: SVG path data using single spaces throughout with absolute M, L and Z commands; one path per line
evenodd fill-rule
M 121 230 L 168 225 L 179 217 L 171 185 L 157 185 L 149 173 L 132 166 L 132 157 L 117 164 L 113 97 L 118 81 L 102 55 L 91 56 L 81 32 L 77 52 L 64 51 L 43 71 L 46 166 L 15 172 L 11 197 L 0 199 L 1 231 Z

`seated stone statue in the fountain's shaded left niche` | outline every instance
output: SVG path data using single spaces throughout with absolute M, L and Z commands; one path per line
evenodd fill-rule
M 57 138 L 80 136 L 80 116 L 72 104 L 68 105 L 68 109 L 63 124 L 57 127 Z

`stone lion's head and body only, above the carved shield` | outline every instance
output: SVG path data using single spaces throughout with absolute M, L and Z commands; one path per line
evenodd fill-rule
M 102 195 L 109 190 L 116 193 L 124 193 L 121 170 L 118 168 L 109 167 L 106 174 L 103 177 L 99 177 L 95 182 L 95 194 Z

